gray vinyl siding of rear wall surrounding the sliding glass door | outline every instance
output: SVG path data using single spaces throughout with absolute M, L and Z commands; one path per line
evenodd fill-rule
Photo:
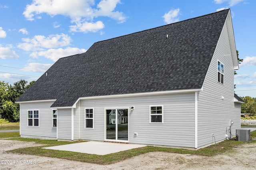
M 129 109 L 129 143 L 193 147 L 195 97 L 193 93 L 81 100 L 80 139 L 105 140 L 105 108 Z M 149 122 L 150 105 L 163 105 L 164 123 Z M 130 111 L 130 107 L 135 109 Z M 94 108 L 94 129 L 84 128 L 84 108 Z M 77 114 L 77 113 L 74 113 Z M 134 133 L 138 136 L 134 136 Z

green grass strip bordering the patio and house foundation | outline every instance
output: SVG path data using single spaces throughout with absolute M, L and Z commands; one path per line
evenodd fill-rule
M 251 137 L 252 138 L 256 137 L 256 131 L 253 131 L 251 133 Z M 61 141 L 54 141 L 54 140 L 25 139 L 25 138 L 12 138 L 9 140 L 18 140 L 18 141 L 27 141 L 27 142 L 33 141 L 33 142 L 41 143 L 45 145 L 40 147 L 20 148 L 20 149 L 10 150 L 8 152 L 14 152 L 19 154 L 33 154 L 38 156 L 48 156 L 53 158 L 76 160 L 80 162 L 88 162 L 88 163 L 102 164 L 102 165 L 113 164 L 116 162 L 120 162 L 122 160 L 132 158 L 134 156 L 138 156 L 140 154 L 144 154 L 148 152 L 156 152 L 156 151 L 172 152 L 172 153 L 179 153 L 179 154 L 214 156 L 216 154 L 224 153 L 232 149 L 232 147 L 237 147 L 238 145 L 241 145 L 244 143 L 256 143 L 256 141 L 254 140 L 252 140 L 251 142 L 225 140 L 218 143 L 217 145 L 211 145 L 209 147 L 199 149 L 199 150 L 172 149 L 172 148 L 164 148 L 164 147 L 146 146 L 146 147 L 141 147 L 137 149 L 131 149 L 131 150 L 125 150 L 122 152 L 107 154 L 107 155 L 96 155 L 96 154 L 62 151 L 62 150 L 42 149 L 42 147 L 66 145 L 66 144 L 78 143 L 78 142 L 84 142 L 84 141 L 61 142 Z

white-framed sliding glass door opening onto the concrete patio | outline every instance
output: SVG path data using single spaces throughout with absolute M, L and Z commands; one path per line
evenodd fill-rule
M 128 109 L 106 109 L 106 139 L 128 141 Z

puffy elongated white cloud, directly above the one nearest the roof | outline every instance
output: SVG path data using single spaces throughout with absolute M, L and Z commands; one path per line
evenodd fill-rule
M 35 35 L 32 39 L 24 38 L 22 41 L 24 41 L 24 43 L 20 43 L 18 48 L 25 51 L 41 51 L 44 49 L 58 48 L 70 45 L 72 39 L 66 34 L 56 34 L 49 35 L 48 37 L 43 35 Z

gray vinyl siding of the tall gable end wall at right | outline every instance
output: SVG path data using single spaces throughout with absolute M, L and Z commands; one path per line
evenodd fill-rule
M 218 82 L 217 63 L 224 64 L 224 84 Z M 224 97 L 222 100 L 221 97 Z M 226 139 L 226 127 L 234 121 L 232 135 L 240 127 L 240 110 L 234 104 L 234 65 L 225 23 L 210 63 L 203 91 L 198 92 L 198 147 Z

